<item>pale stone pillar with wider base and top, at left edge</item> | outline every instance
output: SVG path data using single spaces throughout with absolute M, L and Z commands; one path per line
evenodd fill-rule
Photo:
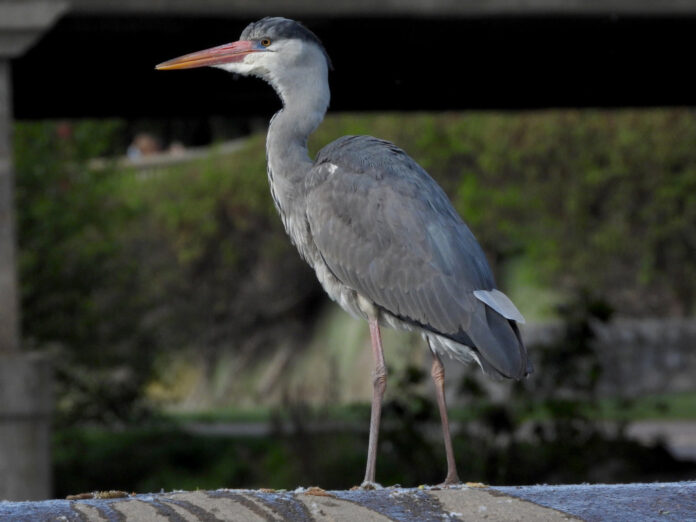
M 0 500 L 51 496 L 52 374 L 20 351 L 10 59 L 67 9 L 62 0 L 0 0 Z

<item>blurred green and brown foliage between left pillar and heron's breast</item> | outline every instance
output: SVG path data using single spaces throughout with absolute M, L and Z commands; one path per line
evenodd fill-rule
M 158 362 L 261 356 L 320 295 L 274 215 L 261 136 L 166 170 L 91 163 L 122 129 L 15 128 L 23 336 L 54 355 L 59 424 L 140 417 Z

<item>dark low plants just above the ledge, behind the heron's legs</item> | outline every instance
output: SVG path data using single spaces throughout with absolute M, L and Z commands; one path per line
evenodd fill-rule
M 478 407 L 466 422 L 453 424 L 460 477 L 498 485 L 692 477 L 695 462 L 675 459 L 659 442 L 631 440 L 625 423 L 598 422 L 601 368 L 590 324 L 609 318 L 606 305 L 580 295 L 561 315 L 563 335 L 534 349 L 545 372 L 517 383 L 510 398 L 490 400 L 476 379 L 462 383 L 462 396 Z M 437 406 L 417 386 L 425 379 L 413 367 L 390 374 L 377 459 L 382 484 L 414 487 L 445 476 Z M 539 417 L 539 410 L 546 415 Z M 347 489 L 359 483 L 367 408 L 350 412 L 351 422 L 343 425 L 330 411 L 302 404 L 284 404 L 275 415 L 275 428 L 257 436 L 204 435 L 191 430 L 190 421 L 117 433 L 64 430 L 55 444 L 58 495 L 112 488 Z

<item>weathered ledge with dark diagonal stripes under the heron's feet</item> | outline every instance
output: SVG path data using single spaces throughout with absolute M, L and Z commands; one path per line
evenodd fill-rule
M 0 502 L 3 521 L 479 519 L 696 520 L 696 482 L 446 489 L 390 487 L 372 491 L 219 489 L 147 495 L 107 492 L 79 500 Z

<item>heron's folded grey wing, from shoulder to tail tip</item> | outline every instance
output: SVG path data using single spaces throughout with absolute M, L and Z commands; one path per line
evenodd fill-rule
M 524 374 L 515 328 L 474 295 L 495 288 L 481 247 L 403 151 L 375 138 L 342 138 L 320 152 L 307 189 L 314 242 L 341 282 L 401 319 L 477 349 L 503 375 Z

